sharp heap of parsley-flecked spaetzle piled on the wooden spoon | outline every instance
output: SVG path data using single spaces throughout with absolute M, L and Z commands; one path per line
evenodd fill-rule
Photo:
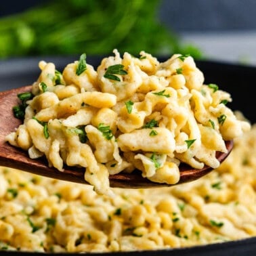
M 59 171 L 84 168 L 95 191 L 111 195 L 108 176 L 121 171 L 176 184 L 180 163 L 217 168 L 215 152 L 251 128 L 226 106 L 229 93 L 204 84 L 191 56 L 158 62 L 144 51 L 138 58 L 113 52 L 96 70 L 85 54 L 63 72 L 39 62 L 24 123 L 7 142 L 30 158 L 46 156 Z

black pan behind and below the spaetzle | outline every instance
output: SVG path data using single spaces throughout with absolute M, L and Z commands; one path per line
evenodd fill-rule
M 169 58 L 169 57 L 167 57 Z M 167 59 L 166 58 L 166 59 Z M 100 64 L 100 57 L 87 57 L 87 63 L 97 67 Z M 38 77 L 40 70 L 38 62 L 54 62 L 56 68 L 60 71 L 70 62 L 79 60 L 79 56 L 53 56 L 53 57 L 33 57 L 17 58 L 9 60 L 0 60 L 0 91 L 31 85 Z M 165 60 L 159 58 L 158 60 Z M 256 123 L 255 112 L 255 89 L 256 85 L 256 66 L 242 66 L 240 64 L 230 64 L 216 61 L 197 61 L 198 68 L 205 75 L 205 83 L 215 83 L 219 89 L 228 91 L 233 99 L 228 106 L 232 110 L 240 110 L 244 116 Z M 1 238 L 1 234 L 0 234 Z M 0 255 L 45 255 L 45 253 L 22 253 L 1 251 Z M 47 253 L 47 255 L 51 255 Z M 53 255 L 79 255 L 78 253 L 58 253 Z M 140 251 L 127 253 L 88 253 L 93 256 L 254 256 L 256 255 L 256 237 L 237 240 L 232 242 L 223 242 L 220 244 L 209 244 L 182 249 L 158 250 L 158 251 Z

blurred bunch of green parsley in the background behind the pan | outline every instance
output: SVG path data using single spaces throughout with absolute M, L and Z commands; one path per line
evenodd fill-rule
M 161 0 L 54 0 L 0 18 L 0 58 L 104 55 L 114 48 L 137 55 L 173 53 L 200 58 L 194 45 L 157 20 Z

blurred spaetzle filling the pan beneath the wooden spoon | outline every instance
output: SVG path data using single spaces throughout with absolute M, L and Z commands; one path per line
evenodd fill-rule
M 45 253 L 192 247 L 256 236 L 256 126 L 205 177 L 99 195 L 0 167 L 0 250 Z

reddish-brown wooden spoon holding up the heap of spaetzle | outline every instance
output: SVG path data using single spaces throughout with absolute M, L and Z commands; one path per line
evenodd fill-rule
M 5 142 L 5 136 L 10 132 L 15 131 L 15 129 L 22 123 L 22 121 L 16 119 L 12 112 L 12 107 L 20 104 L 17 94 L 30 90 L 31 86 L 26 86 L 0 92 L 0 165 L 54 179 L 88 184 L 84 179 L 84 168 L 65 166 L 64 171 L 61 172 L 58 171 L 58 169 L 49 168 L 46 158 L 31 159 L 26 151 Z M 219 162 L 224 161 L 230 154 L 233 148 L 233 141 L 226 142 L 226 146 L 228 148 L 228 153 L 216 153 Z M 213 170 L 208 166 L 205 166 L 202 169 L 192 169 L 192 167 L 185 164 L 180 165 L 179 169 L 180 179 L 177 184 L 192 182 Z M 129 174 L 119 173 L 116 175 L 110 175 L 109 180 L 112 188 L 153 188 L 173 186 L 169 184 L 151 182 L 149 179 L 142 177 L 140 171 L 133 171 L 133 173 Z

